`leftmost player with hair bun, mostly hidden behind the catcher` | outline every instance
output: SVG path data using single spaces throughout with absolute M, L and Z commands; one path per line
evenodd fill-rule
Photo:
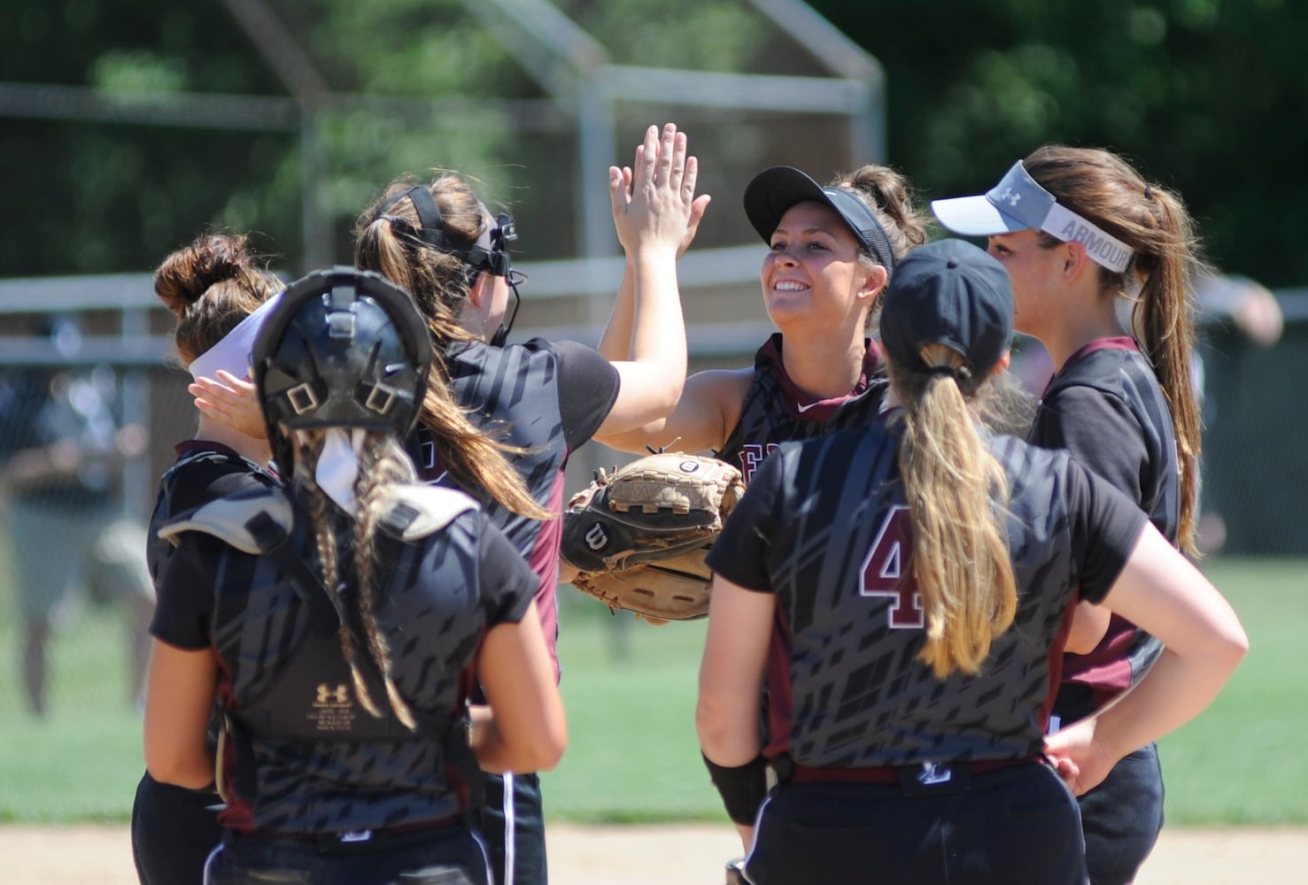
M 177 357 L 192 376 L 220 370 L 243 376 L 255 335 L 281 289 L 281 280 L 259 265 L 243 237 L 199 237 L 154 272 L 154 293 L 177 315 Z M 158 537 L 164 524 L 226 494 L 277 485 L 263 435 L 262 429 L 251 437 L 201 412 L 195 437 L 178 443 L 150 518 L 146 559 L 156 583 L 173 552 Z M 213 741 L 217 733 L 215 724 Z M 145 773 L 132 803 L 132 856 L 141 885 L 203 881 L 204 860 L 222 835 L 221 804 L 212 790 L 160 783 Z

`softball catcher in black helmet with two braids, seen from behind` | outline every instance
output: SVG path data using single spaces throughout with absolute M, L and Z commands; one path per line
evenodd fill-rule
M 158 586 L 146 765 L 213 782 L 217 690 L 228 804 L 209 882 L 487 882 L 464 817 L 477 766 L 542 770 L 562 752 L 530 569 L 471 498 L 416 484 L 400 446 L 430 358 L 408 294 L 381 277 L 292 285 L 254 353 L 288 489 L 161 531 L 177 550 Z M 441 392 L 428 408 L 456 413 Z M 493 710 L 475 760 L 460 727 L 473 680 Z

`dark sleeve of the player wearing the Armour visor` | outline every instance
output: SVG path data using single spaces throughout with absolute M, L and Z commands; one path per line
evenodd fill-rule
M 1092 387 L 1062 387 L 1040 404 L 1031 442 L 1066 448 L 1139 506 L 1142 477 L 1148 472 L 1144 430 L 1126 403 Z

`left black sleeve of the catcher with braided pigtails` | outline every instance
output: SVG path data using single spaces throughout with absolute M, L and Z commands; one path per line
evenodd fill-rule
M 184 532 L 156 578 L 150 635 L 170 646 L 199 651 L 211 644 L 216 567 L 230 548 L 203 532 Z

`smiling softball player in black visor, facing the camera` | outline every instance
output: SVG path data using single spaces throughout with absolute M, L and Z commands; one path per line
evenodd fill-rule
M 895 264 L 926 242 L 908 182 L 863 166 L 823 187 L 790 166 L 759 173 L 744 209 L 770 251 L 760 281 L 773 333 L 748 369 L 701 371 L 685 382 L 664 420 L 604 442 L 712 450 L 746 481 L 781 442 L 807 439 L 875 420 L 886 392 L 882 352 L 869 337 Z M 623 301 L 600 349 L 629 339 Z

